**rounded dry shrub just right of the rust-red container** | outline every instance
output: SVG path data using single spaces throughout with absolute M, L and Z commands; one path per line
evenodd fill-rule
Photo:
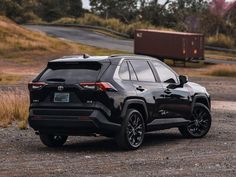
M 207 38 L 207 45 L 214 47 L 233 48 L 234 40 L 224 34 L 210 36 Z

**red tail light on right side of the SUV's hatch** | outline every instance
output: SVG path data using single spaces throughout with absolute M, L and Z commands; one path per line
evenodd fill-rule
M 109 82 L 84 82 L 80 85 L 85 89 L 97 89 L 101 91 L 117 91 Z

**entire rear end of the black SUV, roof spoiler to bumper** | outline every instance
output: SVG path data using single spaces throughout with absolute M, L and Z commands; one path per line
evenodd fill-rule
M 111 120 L 114 101 L 107 93 L 117 90 L 112 80 L 101 80 L 110 66 L 108 57 L 49 62 L 29 83 L 30 126 L 40 134 L 115 134 L 120 124 Z

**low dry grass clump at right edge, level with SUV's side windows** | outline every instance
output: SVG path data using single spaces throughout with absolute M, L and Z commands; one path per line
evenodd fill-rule
M 216 65 L 208 68 L 206 75 L 220 77 L 236 77 L 236 65 Z

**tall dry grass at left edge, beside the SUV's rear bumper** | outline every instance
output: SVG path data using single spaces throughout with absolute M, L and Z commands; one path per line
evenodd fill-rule
M 28 108 L 26 90 L 0 91 L 0 126 L 7 127 L 17 121 L 20 129 L 27 128 Z

